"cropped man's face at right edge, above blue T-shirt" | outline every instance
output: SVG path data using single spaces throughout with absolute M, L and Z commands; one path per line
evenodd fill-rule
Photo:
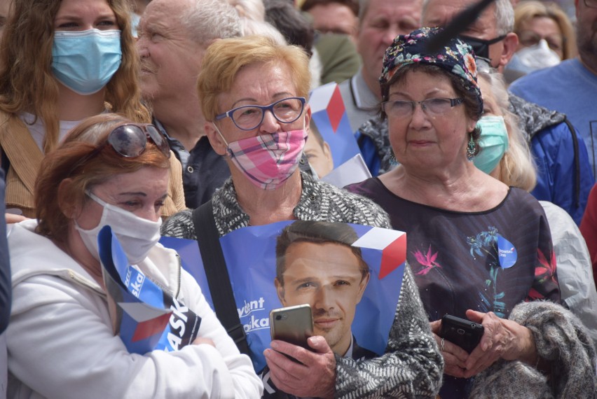
M 597 8 L 587 7 L 584 0 L 576 0 L 575 5 L 578 50 L 583 62 L 590 62 L 589 67 L 597 73 Z

